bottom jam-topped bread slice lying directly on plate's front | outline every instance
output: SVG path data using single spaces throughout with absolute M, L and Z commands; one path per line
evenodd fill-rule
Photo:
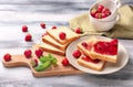
M 102 70 L 105 65 L 105 61 L 91 59 L 89 56 L 85 56 L 85 55 L 81 55 L 80 58 L 78 58 L 78 63 L 81 66 L 84 66 L 94 70 Z

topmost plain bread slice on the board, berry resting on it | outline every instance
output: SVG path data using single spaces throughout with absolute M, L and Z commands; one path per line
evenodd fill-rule
M 64 32 L 66 37 L 64 40 L 61 40 L 59 37 L 59 34 L 61 32 Z M 65 28 L 65 26 L 61 26 L 59 29 L 54 29 L 54 30 L 48 30 L 47 33 L 54 39 L 57 42 L 59 42 L 60 44 L 66 44 L 70 43 L 72 41 L 74 41 L 75 39 L 80 37 L 79 34 L 76 34 L 75 32 L 71 31 L 70 29 Z

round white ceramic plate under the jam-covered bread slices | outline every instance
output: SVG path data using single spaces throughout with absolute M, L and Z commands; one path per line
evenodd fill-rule
M 115 73 L 126 65 L 126 63 L 129 62 L 129 54 L 121 43 L 119 43 L 119 56 L 117 56 L 119 59 L 117 59 L 116 64 L 108 62 L 104 66 L 104 69 L 101 72 L 96 72 L 96 70 L 93 70 L 93 69 L 90 69 L 90 68 L 79 65 L 76 62 L 76 58 L 73 57 L 72 53 L 73 53 L 73 51 L 78 50 L 76 48 L 78 43 L 80 43 L 84 40 L 88 40 L 89 37 L 90 37 L 90 35 L 82 36 L 82 37 L 75 40 L 74 42 L 72 42 L 66 48 L 66 57 L 68 57 L 70 64 L 73 65 L 75 68 L 78 68 L 82 72 L 85 72 L 85 73 L 90 73 L 90 74 L 104 75 L 104 74 Z M 103 36 L 99 36 L 99 37 L 106 39 Z

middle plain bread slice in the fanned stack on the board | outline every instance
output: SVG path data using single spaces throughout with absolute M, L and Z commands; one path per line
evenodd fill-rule
M 52 39 L 49 34 L 44 35 L 42 37 L 42 41 L 44 43 L 48 43 L 50 45 L 53 45 L 54 47 L 61 50 L 61 51 L 65 51 L 66 46 L 69 45 L 69 43 L 66 42 L 65 44 L 60 44 L 59 42 L 57 42 L 54 39 Z

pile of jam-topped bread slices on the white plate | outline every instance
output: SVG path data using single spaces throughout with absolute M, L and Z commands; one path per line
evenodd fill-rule
M 89 37 L 78 43 L 78 50 L 82 53 L 78 63 L 91 69 L 102 70 L 106 62 L 117 62 L 117 45 L 115 39 Z

